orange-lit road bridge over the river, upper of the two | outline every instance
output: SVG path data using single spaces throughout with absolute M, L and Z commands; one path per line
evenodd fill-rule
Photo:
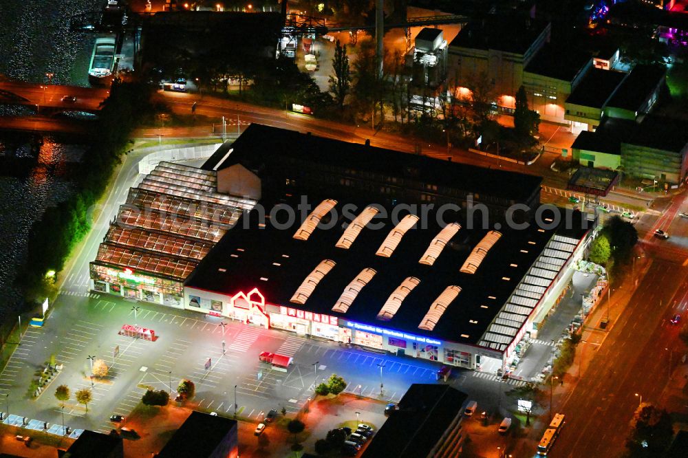
M 98 113 L 100 103 L 108 95 L 109 90 L 105 88 L 38 85 L 0 80 L 0 104 L 32 106 L 37 113 L 44 115 L 65 111 Z M 76 97 L 76 101 L 63 100 L 65 96 Z

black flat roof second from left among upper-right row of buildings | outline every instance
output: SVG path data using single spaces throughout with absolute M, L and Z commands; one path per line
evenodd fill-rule
M 546 44 L 524 71 L 572 82 L 588 65 L 592 65 L 590 53 L 570 46 L 564 49 Z

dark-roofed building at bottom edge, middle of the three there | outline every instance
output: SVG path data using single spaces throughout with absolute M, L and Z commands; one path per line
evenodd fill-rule
M 237 458 L 237 420 L 193 411 L 157 458 Z

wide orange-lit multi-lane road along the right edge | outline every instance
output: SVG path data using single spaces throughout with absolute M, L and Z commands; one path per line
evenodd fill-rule
M 568 419 L 550 456 L 620 456 L 641 396 L 644 402 L 671 409 L 660 395 L 683 348 L 679 327 L 669 318 L 688 318 L 688 220 L 676 217 L 687 207 L 685 195 L 679 195 L 667 202 L 660 217 L 646 215 L 638 225 L 649 270 L 638 279 L 638 289 L 601 341 L 583 378 L 561 405 L 555 404 L 554 410 Z M 671 237 L 653 237 L 656 228 Z

